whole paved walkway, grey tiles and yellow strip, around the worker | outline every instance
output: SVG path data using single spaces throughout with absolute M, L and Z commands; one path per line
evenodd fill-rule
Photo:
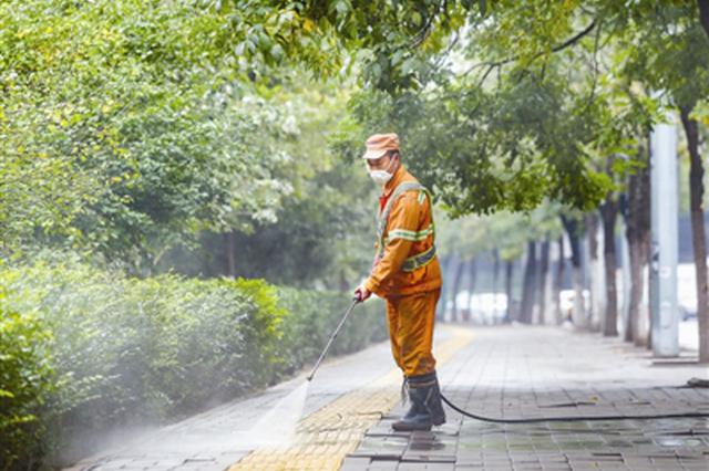
M 645 349 L 553 327 L 454 327 L 436 333 L 443 393 L 493 417 L 709 411 L 685 388 L 705 367 L 655 364 Z M 295 440 L 254 446 L 259 417 L 302 384 L 227 404 L 145 433 L 76 470 L 585 470 L 709 469 L 703 419 L 495 425 L 449 411 L 425 433 L 394 433 L 401 375 L 388 345 L 327 362 L 310 385 Z M 250 443 L 250 444 L 249 444 Z

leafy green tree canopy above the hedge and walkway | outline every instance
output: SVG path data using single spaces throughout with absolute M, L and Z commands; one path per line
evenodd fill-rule
M 332 270 L 369 237 L 353 163 L 380 130 L 453 218 L 594 209 L 665 108 L 709 121 L 701 4 L 4 2 L 3 251 L 214 274 L 234 234 L 243 273 L 269 238 Z

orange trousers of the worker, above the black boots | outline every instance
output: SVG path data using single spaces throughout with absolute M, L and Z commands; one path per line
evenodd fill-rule
M 435 304 L 440 295 L 441 290 L 435 290 L 387 297 L 391 353 L 407 377 L 435 369 L 431 349 Z

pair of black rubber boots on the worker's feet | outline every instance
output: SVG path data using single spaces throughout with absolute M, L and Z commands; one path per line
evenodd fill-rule
M 431 430 L 432 426 L 444 423 L 445 412 L 435 371 L 411 376 L 407 383 L 411 408 L 401 420 L 392 425 L 392 428 L 397 431 Z

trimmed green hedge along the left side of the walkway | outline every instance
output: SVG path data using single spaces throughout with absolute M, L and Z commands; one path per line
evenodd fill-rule
M 0 269 L 2 470 L 56 462 L 75 442 L 88 453 L 100 431 L 174 420 L 274 384 L 317 357 L 349 303 L 260 280 Z M 381 304 L 367 303 L 331 353 L 384 335 Z

